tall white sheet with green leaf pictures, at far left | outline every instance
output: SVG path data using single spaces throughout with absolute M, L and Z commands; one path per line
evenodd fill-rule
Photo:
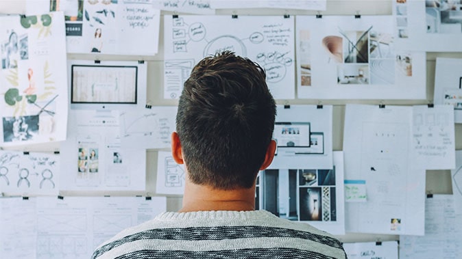
M 0 146 L 66 139 L 64 15 L 0 17 Z

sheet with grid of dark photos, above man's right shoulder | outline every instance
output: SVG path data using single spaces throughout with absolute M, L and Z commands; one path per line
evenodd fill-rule
M 332 169 L 306 166 L 260 172 L 257 209 L 308 222 L 331 234 L 345 234 L 343 152 L 333 152 L 333 160 Z

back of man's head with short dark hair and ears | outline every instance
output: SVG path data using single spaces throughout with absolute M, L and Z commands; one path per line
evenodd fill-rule
M 258 170 L 271 163 L 276 104 L 265 78 L 258 64 L 229 51 L 193 68 L 176 118 L 191 182 L 214 189 L 250 188 Z

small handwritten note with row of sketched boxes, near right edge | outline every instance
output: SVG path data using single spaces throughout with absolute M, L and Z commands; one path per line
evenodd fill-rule
M 418 169 L 454 169 L 454 109 L 413 107 L 413 156 Z

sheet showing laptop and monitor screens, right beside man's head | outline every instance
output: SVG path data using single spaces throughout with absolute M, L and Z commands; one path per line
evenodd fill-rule
M 277 106 L 269 168 L 332 168 L 332 105 Z

